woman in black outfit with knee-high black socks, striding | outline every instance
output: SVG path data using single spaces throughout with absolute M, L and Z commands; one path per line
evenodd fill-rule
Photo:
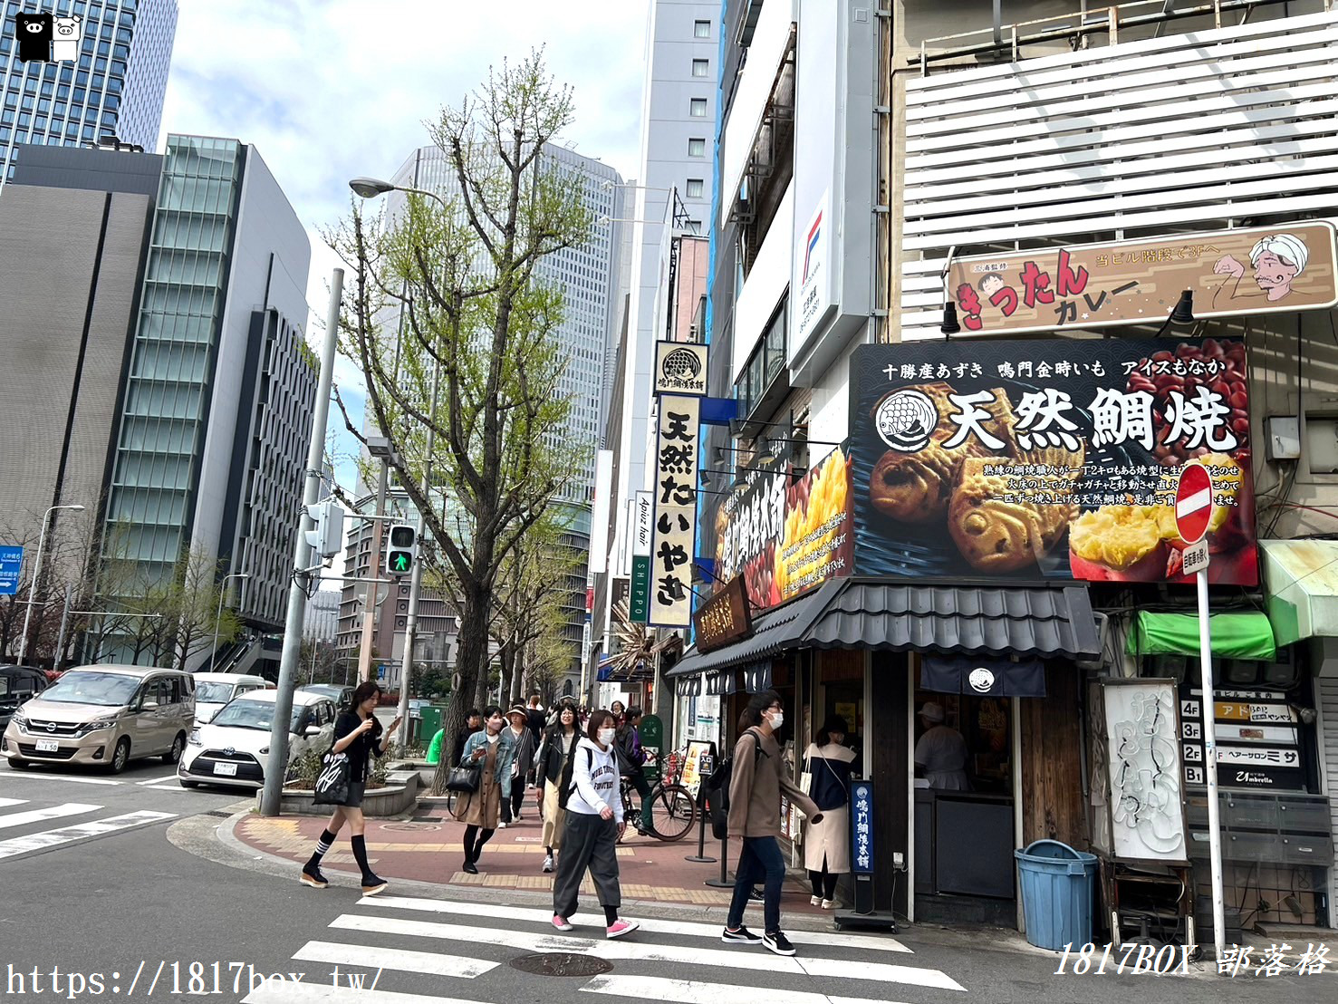
M 302 866 L 302 885 L 309 885 L 313 889 L 324 889 L 329 885 L 329 881 L 321 874 L 321 858 L 330 849 L 347 819 L 352 833 L 353 859 L 363 869 L 363 896 L 376 896 L 385 889 L 385 880 L 377 878 L 367 863 L 367 842 L 363 839 L 363 831 L 367 826 L 363 819 L 363 792 L 367 790 L 369 763 L 373 756 L 385 755 L 391 736 L 395 735 L 395 730 L 400 724 L 400 719 L 396 716 L 389 728 L 381 728 L 381 723 L 376 720 L 373 714 L 380 699 L 380 685 L 375 680 L 364 680 L 353 691 L 349 709 L 334 719 L 334 746 L 330 750 L 337 754 L 348 754 L 348 801 L 339 806 L 330 814 L 330 821 L 325 823 L 325 831 L 321 833 L 314 853 Z

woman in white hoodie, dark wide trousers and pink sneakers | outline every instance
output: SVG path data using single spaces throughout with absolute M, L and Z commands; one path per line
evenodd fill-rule
M 618 917 L 622 890 L 618 886 L 618 839 L 626 823 L 618 784 L 614 748 L 614 718 L 610 711 L 590 712 L 586 735 L 573 755 L 571 787 L 566 797 L 558 874 L 553 882 L 553 926 L 571 930 L 577 896 L 586 869 L 594 881 L 610 938 L 636 930 L 640 924 Z

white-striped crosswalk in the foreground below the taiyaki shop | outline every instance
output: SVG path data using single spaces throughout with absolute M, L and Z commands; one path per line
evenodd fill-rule
M 886 936 L 788 932 L 797 954 L 787 957 L 723 945 L 719 924 L 642 920 L 630 937 L 609 941 L 598 914 L 571 918 L 573 933 L 554 930 L 550 920 L 541 908 L 364 897 L 292 956 L 285 968 L 320 964 L 308 967 L 305 983 L 253 985 L 242 1004 L 484 1004 L 492 999 L 487 977 L 518 953 L 571 953 L 607 964 L 607 972 L 567 984 L 591 995 L 589 1004 L 609 996 L 686 1004 L 867 1004 L 903 993 L 917 1001 L 965 1000 L 962 984 L 915 965 L 914 952 Z M 507 985 L 499 1000 L 514 999 L 514 983 Z

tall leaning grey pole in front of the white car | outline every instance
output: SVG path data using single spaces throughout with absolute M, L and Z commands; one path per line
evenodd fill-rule
M 330 412 L 330 386 L 334 383 L 334 347 L 339 341 L 339 308 L 344 295 L 344 269 L 330 276 L 330 303 L 325 316 L 325 344 L 321 349 L 321 378 L 316 387 L 316 410 L 312 415 L 312 442 L 306 451 L 306 486 L 302 491 L 302 515 L 297 521 L 293 545 L 293 577 L 288 588 L 288 620 L 284 625 L 284 655 L 278 668 L 278 691 L 274 693 L 274 720 L 269 727 L 269 760 L 265 763 L 265 790 L 261 815 L 278 815 L 288 774 L 288 722 L 293 716 L 293 688 L 301 672 L 302 616 L 306 612 L 306 588 L 312 580 L 312 545 L 306 531 L 314 529 L 310 506 L 320 501 L 321 469 L 325 461 L 325 426 Z

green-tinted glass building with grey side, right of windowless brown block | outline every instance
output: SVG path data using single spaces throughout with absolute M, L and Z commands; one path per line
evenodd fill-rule
M 138 589 L 169 581 L 187 554 L 217 561 L 219 577 L 246 577 L 238 614 L 257 633 L 282 625 L 301 511 L 318 376 L 302 333 L 309 264 L 306 232 L 256 147 L 167 137 L 104 568 L 130 562 Z

